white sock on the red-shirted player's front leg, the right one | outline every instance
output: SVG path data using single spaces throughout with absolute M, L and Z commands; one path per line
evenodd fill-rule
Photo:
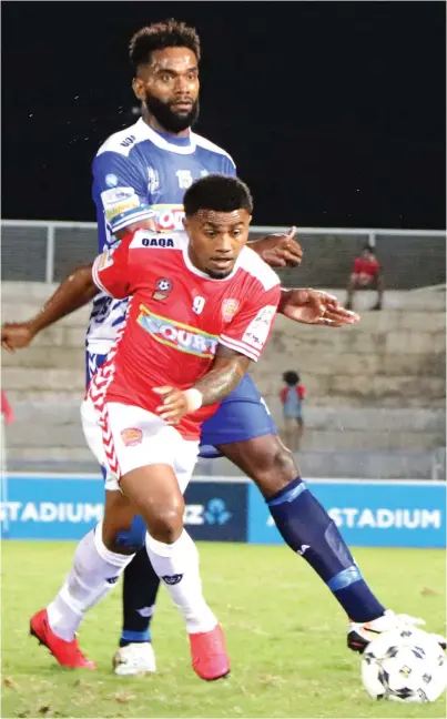
M 186 622 L 187 634 L 211 631 L 217 619 L 205 602 L 199 569 L 199 551 L 187 531 L 171 545 L 146 534 L 146 551 L 171 599 Z

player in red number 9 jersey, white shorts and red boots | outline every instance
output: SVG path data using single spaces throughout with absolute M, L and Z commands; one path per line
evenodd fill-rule
M 104 518 L 79 544 L 54 600 L 31 619 L 31 632 L 61 665 L 94 668 L 75 631 L 131 561 L 134 551 L 120 544 L 120 533 L 140 515 L 152 566 L 185 620 L 194 670 L 202 679 L 230 671 L 222 629 L 202 594 L 197 550 L 183 527 L 183 493 L 201 425 L 258 360 L 281 285 L 245 246 L 252 199 L 241 180 L 204 178 L 184 204 L 185 233 L 138 230 L 85 272 L 85 292 L 131 300 L 81 411 L 112 489 Z

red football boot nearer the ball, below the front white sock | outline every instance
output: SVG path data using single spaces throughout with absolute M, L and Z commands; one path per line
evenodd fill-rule
M 212 681 L 230 674 L 225 638 L 219 625 L 211 631 L 191 634 L 189 637 L 193 669 L 201 679 Z

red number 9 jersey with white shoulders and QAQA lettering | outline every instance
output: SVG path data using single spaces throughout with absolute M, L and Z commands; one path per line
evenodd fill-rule
M 138 230 L 96 257 L 98 287 L 130 302 L 124 327 L 90 384 L 93 402 L 101 394 L 104 402 L 155 413 L 162 402 L 152 388 L 187 389 L 209 372 L 220 344 L 260 358 L 281 296 L 276 273 L 244 247 L 232 273 L 212 280 L 192 264 L 187 244 L 185 233 Z M 186 415 L 176 429 L 199 438 L 216 407 Z

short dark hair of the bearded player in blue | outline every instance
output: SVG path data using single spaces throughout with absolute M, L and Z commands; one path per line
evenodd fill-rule
M 189 48 L 197 58 L 197 62 L 201 59 L 201 43 L 195 28 L 177 20 L 164 20 L 141 28 L 133 36 L 129 45 L 129 57 L 134 71 L 136 72 L 140 65 L 151 62 L 154 50 L 165 48 Z

